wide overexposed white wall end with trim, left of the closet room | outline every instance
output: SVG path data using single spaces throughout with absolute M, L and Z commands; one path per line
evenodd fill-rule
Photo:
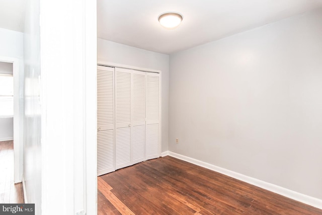
M 96 1 L 34 3 L 29 15 L 41 24 L 41 51 L 32 59 L 41 61 L 33 68 L 41 92 L 31 111 L 41 103 L 41 183 L 30 194 L 41 189 L 41 200 L 30 203 L 36 214 L 57 214 L 52 205 L 59 214 L 97 214 Z M 36 45 L 31 38 L 29 50 L 39 51 Z

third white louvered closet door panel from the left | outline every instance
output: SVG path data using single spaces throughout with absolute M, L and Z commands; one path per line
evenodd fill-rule
M 145 160 L 145 75 L 132 70 L 132 164 Z

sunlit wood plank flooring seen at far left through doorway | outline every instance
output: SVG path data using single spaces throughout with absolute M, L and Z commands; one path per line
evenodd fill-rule
M 14 183 L 14 142 L 0 141 L 0 203 L 24 203 L 22 183 Z

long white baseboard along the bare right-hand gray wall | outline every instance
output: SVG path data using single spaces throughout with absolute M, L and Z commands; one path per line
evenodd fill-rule
M 300 202 L 303 202 L 305 204 L 311 205 L 313 207 L 317 207 L 319 209 L 322 209 L 322 199 L 318 199 L 318 198 L 311 197 L 311 196 L 308 196 L 308 195 L 305 195 L 305 194 L 302 194 L 302 193 L 298 193 L 298 192 L 295 192 L 293 190 L 289 190 L 289 189 L 286 189 L 284 187 L 280 187 L 280 186 L 275 185 L 275 184 L 271 184 L 271 183 L 261 181 L 261 180 L 256 179 L 256 178 L 252 178 L 252 177 L 249 177 L 249 176 L 246 176 L 246 175 L 243 175 L 243 174 L 240 174 L 240 173 L 236 173 L 236 172 L 233 172 L 233 171 L 221 168 L 221 167 L 217 167 L 215 165 L 208 164 L 206 162 L 199 161 L 197 159 L 190 158 L 190 157 L 187 157 L 187 156 L 184 156 L 184 155 L 180 155 L 180 154 L 169 152 L 169 151 L 164 152 L 164 153 L 165 153 L 165 156 L 166 156 L 166 153 L 167 153 L 171 157 L 178 158 L 178 159 L 183 160 L 183 161 L 187 161 L 187 162 L 195 164 L 197 166 L 204 167 L 204 168 L 209 169 L 209 170 L 213 170 L 215 172 L 230 176 L 230 177 L 238 179 L 240 181 L 244 181 L 244 182 L 247 182 L 249 184 L 253 184 L 253 185 L 261 187 L 263 189 L 266 189 L 266 190 L 275 192 L 277 194 L 286 196 L 288 198 L 294 199 L 296 201 L 300 201 Z M 162 153 L 162 155 L 164 155 L 164 153 Z

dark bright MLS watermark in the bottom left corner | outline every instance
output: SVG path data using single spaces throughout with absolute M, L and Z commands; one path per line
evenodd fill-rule
M 35 204 L 0 204 L 0 214 L 35 215 Z

